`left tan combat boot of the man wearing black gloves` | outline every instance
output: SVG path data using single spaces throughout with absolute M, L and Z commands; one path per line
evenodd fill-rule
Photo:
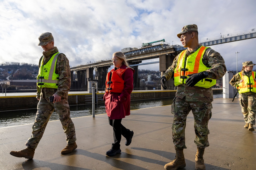
M 175 149 L 175 159 L 164 166 L 167 170 L 176 170 L 178 168 L 184 168 L 186 166 L 183 149 Z

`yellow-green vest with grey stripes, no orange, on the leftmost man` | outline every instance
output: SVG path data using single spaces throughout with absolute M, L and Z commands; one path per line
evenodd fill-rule
M 55 53 L 45 65 L 43 65 L 44 56 L 41 58 L 37 75 L 37 86 L 39 88 L 58 88 L 59 74 L 55 73 L 55 69 L 59 54 L 59 52 Z

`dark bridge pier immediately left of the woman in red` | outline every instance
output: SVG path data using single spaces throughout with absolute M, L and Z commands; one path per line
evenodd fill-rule
M 97 67 L 95 68 L 95 79 L 98 80 L 98 90 L 104 91 L 106 88 L 106 76 L 108 74 L 108 69 L 110 66 Z

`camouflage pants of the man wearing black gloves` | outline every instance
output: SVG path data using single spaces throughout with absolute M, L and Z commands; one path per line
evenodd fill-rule
M 195 144 L 198 147 L 208 147 L 208 122 L 211 118 L 211 102 L 192 102 L 175 97 L 171 112 L 173 114 L 173 143 L 176 149 L 186 149 L 185 127 L 188 113 L 192 110 L 194 115 Z

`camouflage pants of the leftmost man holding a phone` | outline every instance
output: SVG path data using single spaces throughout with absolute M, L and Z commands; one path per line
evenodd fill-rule
M 32 135 L 27 140 L 26 146 L 36 148 L 40 139 L 42 138 L 46 125 L 51 117 L 53 111 L 59 115 L 60 122 L 64 133 L 66 134 L 66 141 L 68 144 L 76 141 L 76 132 L 74 124 L 70 118 L 70 111 L 68 99 L 61 99 L 60 102 L 50 103 L 49 99 L 40 98 L 37 104 L 37 113 L 35 123 L 32 126 Z

